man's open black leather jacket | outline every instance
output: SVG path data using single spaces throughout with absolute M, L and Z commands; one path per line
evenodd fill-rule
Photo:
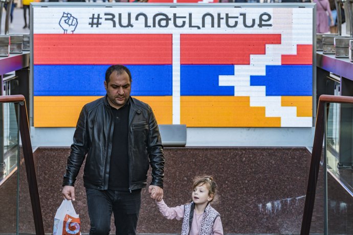
M 152 168 L 151 184 L 163 189 L 164 153 L 155 115 L 148 104 L 132 97 L 129 100 L 129 190 L 146 186 L 149 165 Z M 113 130 L 114 117 L 106 96 L 82 108 L 63 186 L 74 186 L 87 155 L 83 173 L 84 186 L 98 190 L 108 188 Z

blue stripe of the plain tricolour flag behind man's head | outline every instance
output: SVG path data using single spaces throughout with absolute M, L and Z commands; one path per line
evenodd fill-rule
M 34 65 L 34 96 L 104 96 L 110 65 Z M 126 65 L 131 96 L 171 96 L 171 65 Z

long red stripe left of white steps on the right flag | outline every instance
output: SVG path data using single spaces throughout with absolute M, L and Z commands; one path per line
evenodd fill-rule
M 280 34 L 181 34 L 181 64 L 250 64 L 265 54 L 266 44 L 280 44 Z

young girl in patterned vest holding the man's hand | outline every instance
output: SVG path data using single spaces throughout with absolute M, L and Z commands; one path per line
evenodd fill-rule
M 212 176 L 196 177 L 193 184 L 192 202 L 168 207 L 163 199 L 156 201 L 162 215 L 167 219 L 183 219 L 181 235 L 223 235 L 219 213 L 210 205 L 216 196 L 216 183 Z M 153 192 L 152 192 L 153 193 Z

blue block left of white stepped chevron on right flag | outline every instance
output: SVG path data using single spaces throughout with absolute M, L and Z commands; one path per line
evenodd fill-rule
M 234 75 L 233 65 L 181 65 L 181 96 L 234 96 L 234 86 L 219 86 L 219 75 Z

